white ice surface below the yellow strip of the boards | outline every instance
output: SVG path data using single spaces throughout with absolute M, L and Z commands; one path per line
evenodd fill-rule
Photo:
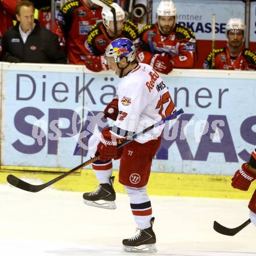
M 122 239 L 133 236 L 136 227 L 127 195 L 117 194 L 117 209 L 108 210 L 84 205 L 82 194 L 0 185 L 0 255 L 138 255 L 122 251 Z M 233 237 L 212 228 L 215 220 L 227 227 L 246 221 L 247 200 L 151 196 L 151 203 L 155 255 L 256 255 L 253 224 Z

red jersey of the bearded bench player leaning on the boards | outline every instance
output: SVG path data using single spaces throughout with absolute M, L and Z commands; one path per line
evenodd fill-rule
M 158 23 L 146 25 L 140 32 L 140 62 L 150 64 L 154 54 L 167 53 L 173 67 L 193 68 L 195 63 L 195 36 L 190 29 L 175 24 L 169 35 L 162 35 Z

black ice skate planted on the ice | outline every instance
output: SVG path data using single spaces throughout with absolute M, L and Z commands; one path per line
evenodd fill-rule
M 138 233 L 130 239 L 123 240 L 123 250 L 137 253 L 155 253 L 155 233 L 152 229 L 155 218 L 151 218 L 151 226 L 147 229 L 138 229 Z

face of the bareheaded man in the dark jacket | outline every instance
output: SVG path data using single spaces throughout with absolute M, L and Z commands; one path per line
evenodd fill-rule
M 16 15 L 17 20 L 20 22 L 20 26 L 24 32 L 33 29 L 34 25 L 34 8 L 33 6 L 22 6 L 20 8 L 20 14 Z

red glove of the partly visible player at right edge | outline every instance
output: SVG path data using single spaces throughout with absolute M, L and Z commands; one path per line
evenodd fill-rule
M 241 168 L 234 173 L 231 185 L 234 189 L 247 191 L 255 179 L 256 174 L 247 169 L 247 163 L 243 163 Z

